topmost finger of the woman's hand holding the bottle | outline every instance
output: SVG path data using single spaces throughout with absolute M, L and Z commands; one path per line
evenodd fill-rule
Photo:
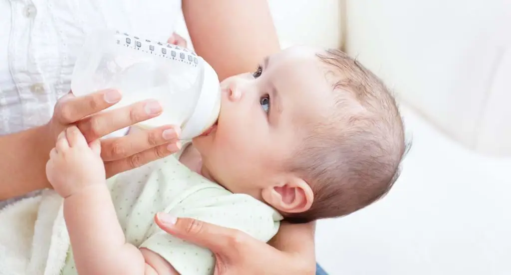
M 69 92 L 55 105 L 53 118 L 62 125 L 71 124 L 101 112 L 119 100 L 121 100 L 121 93 L 116 90 L 103 90 L 81 97 L 75 97 Z

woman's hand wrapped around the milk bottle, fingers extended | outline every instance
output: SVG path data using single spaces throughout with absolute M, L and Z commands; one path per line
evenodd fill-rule
M 75 97 L 70 92 L 57 102 L 53 118 L 45 128 L 55 142 L 65 128 L 76 125 L 90 143 L 162 112 L 157 101 L 146 100 L 99 113 L 120 100 L 121 93 L 115 90 L 99 91 L 83 97 Z M 179 132 L 179 128 L 168 125 L 101 140 L 101 157 L 107 178 L 176 152 L 180 147 Z

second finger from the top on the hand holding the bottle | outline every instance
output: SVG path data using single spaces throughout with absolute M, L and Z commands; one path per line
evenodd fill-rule
M 157 101 L 147 100 L 90 116 L 80 120 L 77 126 L 87 142 L 91 142 L 113 131 L 157 117 L 161 112 L 161 105 Z

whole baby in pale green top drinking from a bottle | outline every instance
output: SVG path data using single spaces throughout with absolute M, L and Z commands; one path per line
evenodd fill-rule
M 156 212 L 268 241 L 282 219 L 344 216 L 396 181 L 405 151 L 396 102 L 343 52 L 292 47 L 221 87 L 215 126 L 106 183 L 99 142 L 76 127 L 61 133 L 47 175 L 72 246 L 62 274 L 212 274 L 211 252 L 159 229 Z

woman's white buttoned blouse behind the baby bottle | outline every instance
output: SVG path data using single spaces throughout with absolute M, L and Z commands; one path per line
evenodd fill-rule
M 0 135 L 49 121 L 87 33 L 167 41 L 180 0 L 0 0 Z

